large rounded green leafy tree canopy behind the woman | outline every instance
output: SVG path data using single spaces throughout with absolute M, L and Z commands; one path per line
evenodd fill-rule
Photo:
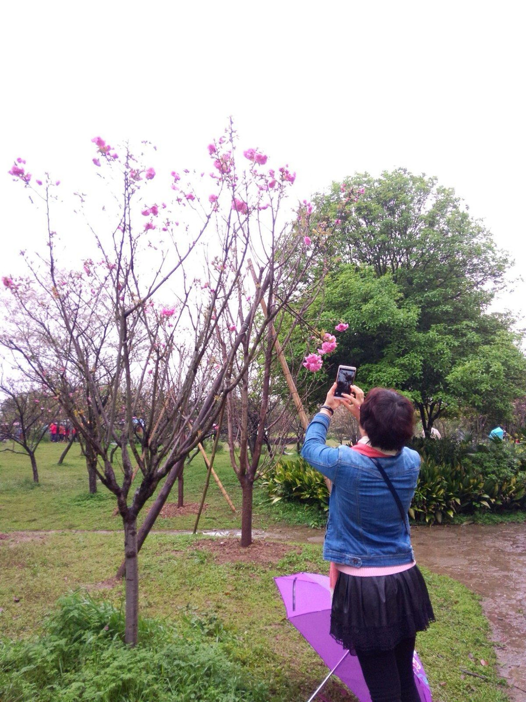
M 337 216 L 350 187 L 363 194 Z M 316 205 L 316 218 L 335 225 L 339 263 L 312 318 L 326 329 L 349 324 L 329 378 L 338 364 L 352 363 L 358 384 L 400 389 L 426 433 L 446 409 L 461 406 L 506 420 L 525 392 L 525 358 L 513 319 L 487 309 L 511 262 L 454 190 L 398 169 L 335 183 Z

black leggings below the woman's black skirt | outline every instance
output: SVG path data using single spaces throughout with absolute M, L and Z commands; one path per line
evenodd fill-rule
M 356 651 L 372 702 L 420 702 L 413 675 L 414 640 L 404 639 L 391 651 Z

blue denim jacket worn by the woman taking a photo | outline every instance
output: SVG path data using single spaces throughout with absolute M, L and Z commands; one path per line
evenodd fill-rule
M 306 430 L 303 458 L 332 481 L 323 557 L 360 568 L 394 566 L 414 560 L 406 517 L 405 531 L 396 501 L 377 466 L 349 446 L 325 445 L 330 420 L 316 414 Z M 376 458 L 391 479 L 404 511 L 410 508 L 420 456 L 403 448 Z

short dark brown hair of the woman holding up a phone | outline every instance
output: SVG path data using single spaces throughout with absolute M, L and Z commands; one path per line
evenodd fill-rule
M 414 407 L 396 390 L 372 388 L 360 407 L 360 425 L 372 446 L 400 451 L 413 435 Z

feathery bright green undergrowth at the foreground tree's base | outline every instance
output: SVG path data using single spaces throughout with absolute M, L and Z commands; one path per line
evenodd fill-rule
M 36 641 L 0 641 L 3 702 L 263 702 L 264 685 L 229 661 L 215 623 L 182 633 L 140 622 L 140 644 L 123 642 L 123 614 L 87 595 L 69 595 Z

